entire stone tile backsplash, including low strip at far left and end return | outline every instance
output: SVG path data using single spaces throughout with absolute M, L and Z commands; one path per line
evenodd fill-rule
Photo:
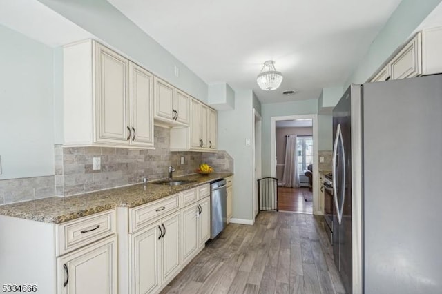
M 148 150 L 55 145 L 55 175 L 0 180 L 0 205 L 136 184 L 143 177 L 161 179 L 169 166 L 175 168 L 174 177 L 195 173 L 202 162 L 217 172 L 233 172 L 233 159 L 225 151 L 171 152 L 169 128 L 155 126 L 154 131 L 155 149 Z M 99 170 L 93 170 L 94 157 L 100 158 Z

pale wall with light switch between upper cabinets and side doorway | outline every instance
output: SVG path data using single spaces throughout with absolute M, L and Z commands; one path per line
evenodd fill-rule
M 253 220 L 253 150 L 245 139 L 253 138 L 253 93 L 235 92 L 235 109 L 218 112 L 218 148 L 234 161 L 233 218 Z

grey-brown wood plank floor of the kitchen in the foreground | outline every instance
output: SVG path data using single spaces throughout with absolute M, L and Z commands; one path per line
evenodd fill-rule
M 162 293 L 345 293 L 323 218 L 260 213 L 229 224 Z

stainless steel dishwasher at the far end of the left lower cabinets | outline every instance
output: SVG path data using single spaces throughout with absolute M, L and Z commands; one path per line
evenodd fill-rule
M 220 179 L 210 184 L 211 234 L 214 239 L 226 227 L 227 190 L 226 180 Z

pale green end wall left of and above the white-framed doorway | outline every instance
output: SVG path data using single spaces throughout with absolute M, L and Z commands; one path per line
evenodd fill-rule
M 262 177 L 271 176 L 270 118 L 285 115 L 310 115 L 318 112 L 318 99 L 262 104 Z

